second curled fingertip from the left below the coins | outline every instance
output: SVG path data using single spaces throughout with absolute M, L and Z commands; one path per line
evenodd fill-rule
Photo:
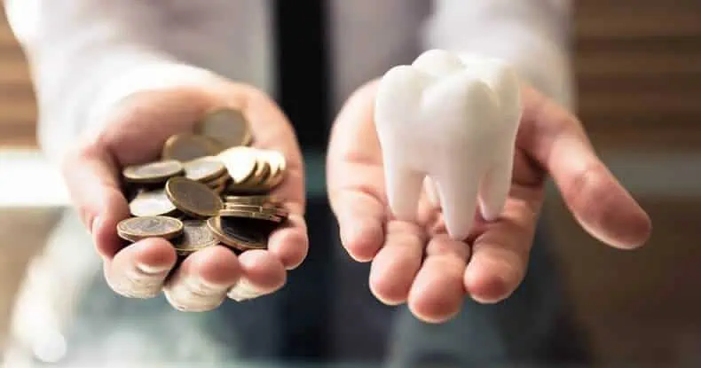
M 226 247 L 209 247 L 190 254 L 180 264 L 164 288 L 164 294 L 175 309 L 212 310 L 221 305 L 240 275 L 236 254 Z

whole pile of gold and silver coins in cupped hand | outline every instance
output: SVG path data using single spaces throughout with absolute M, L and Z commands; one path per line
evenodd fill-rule
M 167 239 L 177 254 L 224 244 L 240 253 L 264 249 L 287 209 L 269 192 L 285 179 L 282 153 L 254 148 L 239 111 L 217 109 L 193 133 L 165 142 L 159 161 L 122 170 L 131 217 L 120 238 Z

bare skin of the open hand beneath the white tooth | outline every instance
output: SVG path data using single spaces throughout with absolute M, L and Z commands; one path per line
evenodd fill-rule
M 380 301 L 406 302 L 416 317 L 440 323 L 454 317 L 466 297 L 482 303 L 507 298 L 524 278 L 548 176 L 596 239 L 619 249 L 649 239 L 650 217 L 596 156 L 581 123 L 528 87 L 500 218 L 488 223 L 476 211 L 469 237 L 451 240 L 439 208 L 424 195 L 416 222 L 394 219 L 373 121 L 375 89 L 376 82 L 360 88 L 338 115 L 327 184 L 343 247 L 358 262 L 372 262 L 370 289 Z

